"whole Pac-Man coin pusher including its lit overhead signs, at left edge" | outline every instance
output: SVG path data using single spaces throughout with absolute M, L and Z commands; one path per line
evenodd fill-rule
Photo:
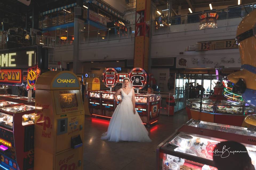
M 31 90 L 47 70 L 47 50 L 30 46 L 0 50 L 0 84 L 25 86 L 29 98 L 0 96 L 0 169 L 28 170 L 34 166 L 35 104 Z

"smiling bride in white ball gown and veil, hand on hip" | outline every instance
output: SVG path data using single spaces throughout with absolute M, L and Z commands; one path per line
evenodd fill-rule
M 122 101 L 118 102 L 117 95 L 121 93 Z M 114 99 L 118 103 L 106 133 L 101 139 L 109 141 L 138 141 L 151 142 L 148 131 L 143 125 L 138 112 L 135 109 L 135 94 L 129 78 L 123 79 L 122 88 L 115 94 Z

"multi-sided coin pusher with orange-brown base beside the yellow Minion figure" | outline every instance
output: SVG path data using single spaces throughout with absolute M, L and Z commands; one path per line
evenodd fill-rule
M 227 100 L 223 95 L 222 82 L 217 82 L 214 94 L 204 99 L 187 99 L 186 111 L 189 119 L 244 126 L 244 119 L 255 113 L 255 108 L 243 103 Z M 201 104 L 202 101 L 202 104 Z

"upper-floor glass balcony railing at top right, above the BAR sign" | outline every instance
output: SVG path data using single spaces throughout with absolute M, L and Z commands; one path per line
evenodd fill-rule
M 221 10 L 192 13 L 155 20 L 153 35 L 206 30 L 239 25 L 256 5 L 230 7 Z M 205 17 L 205 18 L 204 18 Z

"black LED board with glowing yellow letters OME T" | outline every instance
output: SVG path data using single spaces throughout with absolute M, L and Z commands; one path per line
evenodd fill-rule
M 29 68 L 37 64 L 37 47 L 0 51 L 0 68 Z

